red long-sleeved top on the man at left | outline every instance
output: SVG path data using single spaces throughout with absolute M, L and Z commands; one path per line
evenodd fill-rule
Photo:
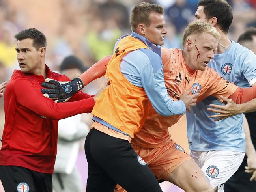
M 47 66 L 46 72 L 47 78 L 70 81 L 66 76 L 50 71 Z M 15 70 L 7 84 L 0 165 L 53 173 L 58 120 L 92 111 L 95 104 L 92 95 L 79 91 L 70 102 L 55 103 L 42 95 L 41 83 L 44 81 L 42 75 L 29 75 Z

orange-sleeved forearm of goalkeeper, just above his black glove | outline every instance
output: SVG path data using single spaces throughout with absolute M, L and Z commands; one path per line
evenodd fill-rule
M 111 57 L 112 57 L 112 55 L 102 58 L 101 60 L 99 60 L 94 65 L 92 65 L 92 67 L 87 69 L 83 74 L 81 74 L 78 77 L 82 80 L 84 86 L 86 86 L 93 80 L 105 75 L 106 70 L 107 70 L 107 65 L 108 65 L 108 62 L 110 61 Z

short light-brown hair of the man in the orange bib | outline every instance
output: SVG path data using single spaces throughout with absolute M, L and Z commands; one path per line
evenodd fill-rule
M 130 24 L 132 31 L 136 32 L 137 27 L 140 23 L 146 24 L 148 27 L 151 24 L 149 19 L 149 14 L 151 12 L 156 12 L 164 15 L 164 8 L 157 4 L 150 3 L 139 3 L 133 7 L 130 15 Z

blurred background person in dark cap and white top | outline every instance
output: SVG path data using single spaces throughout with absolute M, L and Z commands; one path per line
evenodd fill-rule
M 60 73 L 74 79 L 86 71 L 82 61 L 75 56 L 64 58 Z M 52 185 L 56 192 L 82 192 L 81 175 L 75 166 L 80 140 L 85 138 L 89 127 L 81 121 L 82 114 L 61 119 L 58 129 L 58 145 Z

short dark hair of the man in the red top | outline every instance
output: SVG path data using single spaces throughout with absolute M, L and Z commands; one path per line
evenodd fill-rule
M 21 41 L 27 38 L 33 39 L 33 46 L 36 48 L 36 50 L 39 50 L 40 47 L 46 48 L 45 35 L 35 28 L 24 29 L 14 35 L 14 37 L 17 41 Z

